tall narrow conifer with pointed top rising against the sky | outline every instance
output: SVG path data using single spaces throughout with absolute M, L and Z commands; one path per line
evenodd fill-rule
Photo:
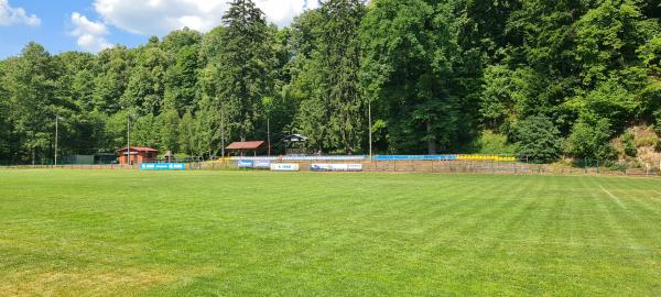
M 223 22 L 224 46 L 210 96 L 223 101 L 228 136 L 247 140 L 256 135 L 262 98 L 273 92 L 273 36 L 263 12 L 251 0 L 231 1 Z

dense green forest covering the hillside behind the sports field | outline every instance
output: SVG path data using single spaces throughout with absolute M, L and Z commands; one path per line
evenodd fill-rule
M 278 153 L 301 133 L 367 154 L 371 129 L 380 154 L 608 160 L 629 128 L 661 132 L 658 0 L 325 0 L 282 29 L 232 0 L 218 18 L 0 61 L 0 160 L 52 158 L 56 117 L 62 155 L 122 147 L 128 121 L 132 144 L 207 157 L 267 131 Z

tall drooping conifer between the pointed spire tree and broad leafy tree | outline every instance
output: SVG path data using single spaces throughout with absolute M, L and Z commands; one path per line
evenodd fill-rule
M 292 86 L 302 95 L 296 125 L 319 150 L 365 147 L 366 105 L 358 81 L 365 13 L 364 1 L 328 0 L 300 16 L 293 29 L 297 70 Z

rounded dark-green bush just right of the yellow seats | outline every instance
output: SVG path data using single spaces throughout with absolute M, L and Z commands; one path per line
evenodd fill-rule
M 514 140 L 517 154 L 534 163 L 552 163 L 560 157 L 560 131 L 546 117 L 533 116 L 519 121 L 510 139 Z

